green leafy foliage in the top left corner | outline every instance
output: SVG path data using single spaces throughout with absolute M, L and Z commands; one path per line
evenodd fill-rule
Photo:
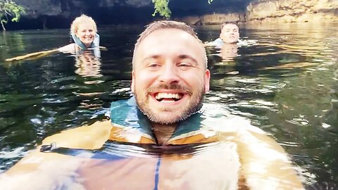
M 8 23 L 8 16 L 11 16 L 12 22 L 18 22 L 25 9 L 12 0 L 0 0 L 0 23 L 3 30 L 6 30 L 4 24 Z

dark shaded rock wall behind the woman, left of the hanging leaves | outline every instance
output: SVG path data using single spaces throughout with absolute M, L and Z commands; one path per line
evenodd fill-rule
M 143 24 L 154 17 L 151 0 L 13 0 L 25 8 L 19 23 L 8 22 L 6 28 L 68 28 L 81 14 L 92 16 L 98 25 Z M 157 18 L 157 17 L 156 17 Z

